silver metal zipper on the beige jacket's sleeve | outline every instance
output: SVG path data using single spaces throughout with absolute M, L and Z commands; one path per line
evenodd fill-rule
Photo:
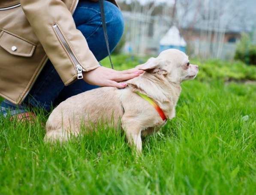
M 55 32 L 57 33 L 58 37 L 60 38 L 60 41 L 62 42 L 62 44 L 66 48 L 66 51 L 68 52 L 68 54 L 69 54 L 70 58 L 72 59 L 73 63 L 75 64 L 75 67 L 76 67 L 76 70 L 77 70 L 77 79 L 83 79 L 82 72 L 84 71 L 84 69 L 83 69 L 83 67 L 81 67 L 77 58 L 75 57 L 72 50 L 70 49 L 69 44 L 66 42 L 66 39 L 64 38 L 62 32 L 60 31 L 59 26 L 57 24 L 54 24 L 52 27 L 54 28 Z

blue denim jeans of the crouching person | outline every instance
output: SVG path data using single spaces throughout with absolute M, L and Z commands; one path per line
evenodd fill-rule
M 104 1 L 104 8 L 109 47 L 113 51 L 123 35 L 123 15 L 114 4 L 108 1 Z M 99 3 L 80 0 L 73 18 L 76 28 L 86 38 L 89 48 L 96 59 L 100 61 L 105 58 L 108 52 L 102 29 Z M 58 105 L 65 99 L 96 87 L 82 79 L 69 86 L 64 86 L 51 61 L 48 60 L 24 102 L 17 106 L 4 100 L 0 109 L 4 115 L 7 114 L 8 110 L 11 115 L 26 112 L 27 105 L 50 111 L 52 106 Z

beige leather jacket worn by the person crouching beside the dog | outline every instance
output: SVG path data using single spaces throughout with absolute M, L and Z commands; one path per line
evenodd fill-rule
M 48 58 L 65 85 L 81 78 L 82 71 L 99 66 L 75 27 L 72 13 L 77 3 L 0 1 L 0 96 L 20 104 Z

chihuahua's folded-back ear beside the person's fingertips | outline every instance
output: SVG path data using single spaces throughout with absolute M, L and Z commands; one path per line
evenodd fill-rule
M 145 64 L 137 66 L 139 70 L 144 70 L 150 73 L 167 74 L 168 61 L 159 58 L 149 58 Z

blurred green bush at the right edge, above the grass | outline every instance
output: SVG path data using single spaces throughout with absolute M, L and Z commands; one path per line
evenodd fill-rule
M 246 64 L 256 64 L 256 45 L 247 34 L 242 34 L 240 43 L 238 44 L 235 52 L 235 59 L 241 60 Z

